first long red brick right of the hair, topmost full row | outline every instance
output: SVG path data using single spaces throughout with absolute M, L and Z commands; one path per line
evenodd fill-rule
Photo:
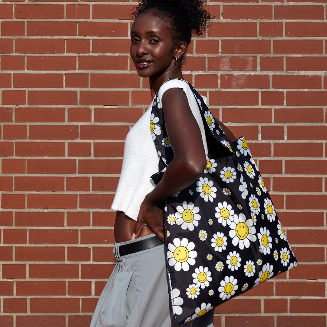
M 272 19 L 272 6 L 224 5 L 223 17 L 224 19 Z

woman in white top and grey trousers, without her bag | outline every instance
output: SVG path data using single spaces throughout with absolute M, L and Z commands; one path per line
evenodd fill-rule
M 117 211 L 114 254 L 118 263 L 91 327 L 176 326 L 165 269 L 164 200 L 196 181 L 206 166 L 204 127 L 197 102 L 182 80 L 181 62 L 192 33 L 201 34 L 210 14 L 198 0 L 141 0 L 134 15 L 130 56 L 139 76 L 149 78 L 152 99 L 160 89 L 174 159 L 154 186 L 150 176 L 158 171 L 158 154 L 149 128 L 151 104 L 126 138 L 112 204 Z M 178 79 L 164 83 L 170 78 Z M 227 128 L 224 131 L 235 139 Z M 213 317 L 211 310 L 184 326 L 213 326 Z

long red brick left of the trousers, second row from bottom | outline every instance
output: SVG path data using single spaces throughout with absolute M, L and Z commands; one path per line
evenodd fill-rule
M 31 298 L 30 312 L 79 312 L 77 298 Z

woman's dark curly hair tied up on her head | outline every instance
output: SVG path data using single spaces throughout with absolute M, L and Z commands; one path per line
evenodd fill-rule
M 151 11 L 162 19 L 171 32 L 174 44 L 191 42 L 193 35 L 202 35 L 208 26 L 210 13 L 203 8 L 204 1 L 200 0 L 139 0 L 133 15 Z

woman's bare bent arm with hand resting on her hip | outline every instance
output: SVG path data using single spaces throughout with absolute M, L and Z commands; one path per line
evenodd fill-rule
M 162 107 L 174 159 L 142 202 L 134 234 L 138 237 L 146 224 L 163 241 L 164 200 L 198 179 L 206 166 L 206 155 L 200 128 L 183 90 L 168 89 L 163 94 Z

